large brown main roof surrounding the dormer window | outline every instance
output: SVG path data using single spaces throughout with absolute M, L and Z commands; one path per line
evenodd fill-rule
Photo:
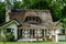
M 24 20 L 26 16 L 40 16 L 42 20 L 42 23 L 38 24 L 38 26 L 45 26 L 45 28 L 55 28 L 57 22 L 53 22 L 52 15 L 50 10 L 12 10 L 11 13 L 9 14 L 10 20 L 18 20 L 20 24 L 22 25 L 29 25 L 24 24 Z M 32 24 L 33 25 L 33 24 Z M 36 24 L 34 24 L 36 25 Z M 22 28 L 22 26 L 21 26 Z

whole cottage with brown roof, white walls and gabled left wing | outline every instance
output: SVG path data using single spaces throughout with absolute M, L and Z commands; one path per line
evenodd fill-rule
M 55 42 L 65 41 L 66 30 L 61 25 L 59 21 L 53 22 L 50 10 L 8 10 L 6 23 L 0 25 L 0 35 L 12 32 L 18 41 L 36 41 L 36 37 L 40 41 L 44 37 Z

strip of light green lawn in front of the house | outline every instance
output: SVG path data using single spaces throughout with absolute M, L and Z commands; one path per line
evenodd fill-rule
M 0 42 L 3 44 L 3 42 Z M 6 44 L 66 44 L 66 42 L 7 42 Z

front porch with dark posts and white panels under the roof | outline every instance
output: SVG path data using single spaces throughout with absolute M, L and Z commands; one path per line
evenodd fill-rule
M 50 37 L 55 41 L 54 30 L 48 29 L 20 29 L 18 30 L 19 41 L 43 41 L 44 37 Z

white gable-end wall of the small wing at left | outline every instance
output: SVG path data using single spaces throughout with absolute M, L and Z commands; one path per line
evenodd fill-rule
M 18 40 L 18 25 L 16 25 L 16 23 L 13 22 L 13 23 L 9 24 L 8 26 L 3 28 L 3 30 L 6 30 L 6 29 L 13 29 L 14 40 Z M 1 35 L 3 36 L 3 33 L 1 33 Z

